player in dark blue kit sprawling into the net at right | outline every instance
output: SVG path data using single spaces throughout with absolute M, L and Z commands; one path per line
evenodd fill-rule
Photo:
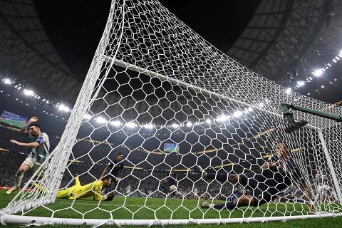
M 199 172 L 202 172 L 202 177 L 204 178 L 217 179 L 221 182 L 227 180 L 232 183 L 239 182 L 251 190 L 250 194 L 237 197 L 226 204 L 209 204 L 203 202 L 201 207 L 215 209 L 235 209 L 249 205 L 259 207 L 261 204 L 271 202 L 279 193 L 292 186 L 292 182 L 294 181 L 299 184 L 299 187 L 304 192 L 304 199 L 309 204 L 312 212 L 314 206 L 311 204 L 311 192 L 303 175 L 299 172 L 296 162 L 289 155 L 289 150 L 284 146 L 284 143 L 278 143 L 275 152 L 276 155 L 270 157 L 270 162 L 264 162 L 261 165 L 261 174 L 252 171 L 242 175 L 207 173 L 202 167 L 198 166 Z

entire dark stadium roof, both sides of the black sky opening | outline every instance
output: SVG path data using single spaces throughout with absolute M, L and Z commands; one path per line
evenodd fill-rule
M 329 48 L 339 48 L 336 41 L 342 34 L 341 11 L 337 0 L 262 0 L 226 53 L 261 76 L 286 86 L 287 73 L 293 69 L 302 71 L 299 77 L 307 76 L 318 45 L 328 43 Z M 0 29 L 0 73 L 32 86 L 40 95 L 72 105 L 82 81 L 53 48 L 33 1 L 2 1 Z

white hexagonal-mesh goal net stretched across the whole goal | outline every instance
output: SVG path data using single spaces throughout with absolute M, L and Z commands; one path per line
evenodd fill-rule
M 286 134 L 281 103 L 342 113 L 249 71 L 158 1 L 113 0 L 61 140 L 1 210 L 1 222 L 217 224 L 341 215 L 341 124 L 294 112 L 309 124 Z M 98 182 L 106 167 L 113 174 L 120 165 L 123 174 L 110 187 L 96 185 L 107 182 Z

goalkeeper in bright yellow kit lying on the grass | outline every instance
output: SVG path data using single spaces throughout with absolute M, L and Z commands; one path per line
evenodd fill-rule
M 81 185 L 78 177 L 75 177 L 75 185 L 68 187 L 66 190 L 59 190 L 56 198 L 59 199 L 81 199 L 86 197 L 92 197 L 97 201 L 111 201 L 113 200 L 113 194 L 102 196 L 101 192 L 103 188 L 108 187 L 112 183 L 112 178 L 109 175 L 102 177 L 101 180 L 95 180 L 88 185 Z M 42 191 L 46 191 L 44 187 L 34 183 L 35 187 Z

